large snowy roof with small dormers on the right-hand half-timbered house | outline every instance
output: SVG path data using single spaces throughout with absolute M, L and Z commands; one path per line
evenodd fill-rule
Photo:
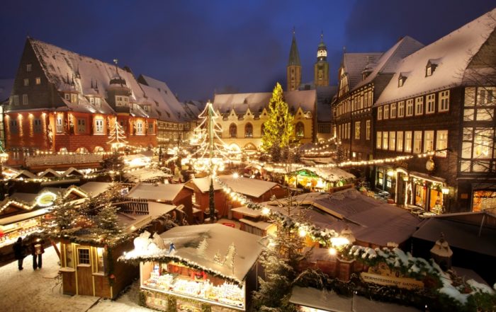
M 376 105 L 460 86 L 473 55 L 490 35 L 495 35 L 494 18 L 496 8 L 402 59 Z M 425 74 L 429 60 L 437 64 L 432 76 Z M 408 73 L 407 79 L 398 87 L 398 78 L 405 73 Z

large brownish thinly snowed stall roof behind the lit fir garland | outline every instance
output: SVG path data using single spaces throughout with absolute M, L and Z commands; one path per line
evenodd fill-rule
M 355 189 L 332 193 L 308 193 L 294 197 L 303 206 L 312 224 L 338 233 L 346 226 L 359 241 L 386 246 L 389 242 L 403 243 L 417 230 L 420 220 L 405 209 L 385 204 Z M 287 214 L 271 202 L 267 207 Z

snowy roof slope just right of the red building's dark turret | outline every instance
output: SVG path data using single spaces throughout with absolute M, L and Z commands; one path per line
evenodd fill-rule
M 184 110 L 184 106 L 179 103 L 179 100 L 177 100 L 176 95 L 167 86 L 167 83 L 145 75 L 141 75 L 139 80 L 146 82 L 144 84 L 150 86 L 150 88 L 145 88 L 147 95 L 152 92 L 150 89 L 157 91 L 156 94 L 162 98 L 162 103 L 164 103 L 164 106 L 161 107 L 159 105 L 159 108 L 167 109 L 172 115 L 171 118 L 174 118 L 175 121 L 186 121 L 190 119 Z M 165 118 L 163 115 L 161 117 Z M 159 117 L 160 120 L 167 120 L 161 119 L 161 117 Z

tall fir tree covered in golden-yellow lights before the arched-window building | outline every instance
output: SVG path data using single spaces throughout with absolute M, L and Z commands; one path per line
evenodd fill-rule
M 264 134 L 261 137 L 262 149 L 277 158 L 277 154 L 281 153 L 280 148 L 287 146 L 294 137 L 294 117 L 288 111 L 288 104 L 284 102 L 283 88 L 279 83 L 276 83 L 272 92 L 268 113 L 269 120 L 264 123 Z

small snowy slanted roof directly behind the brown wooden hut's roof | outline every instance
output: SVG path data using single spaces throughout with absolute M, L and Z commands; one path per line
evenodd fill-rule
M 183 188 L 183 184 L 139 183 L 129 191 L 127 197 L 170 202 Z

